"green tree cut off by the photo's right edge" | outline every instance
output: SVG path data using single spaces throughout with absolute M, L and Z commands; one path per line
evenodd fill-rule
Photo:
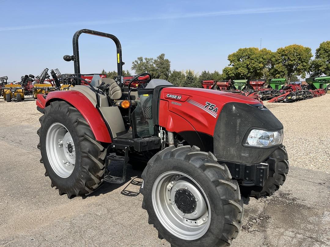
M 309 68 L 311 77 L 321 76 L 325 74 L 330 76 L 330 40 L 320 43 L 316 49 L 315 58 L 311 62 Z

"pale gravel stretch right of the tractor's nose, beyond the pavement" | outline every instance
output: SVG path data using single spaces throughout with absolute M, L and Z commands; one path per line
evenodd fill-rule
M 284 126 L 290 165 L 330 173 L 330 93 L 293 103 L 265 106 Z

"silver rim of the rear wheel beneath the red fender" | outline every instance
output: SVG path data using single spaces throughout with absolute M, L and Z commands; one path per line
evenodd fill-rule
M 60 123 L 50 125 L 46 135 L 49 164 L 61 178 L 68 178 L 75 168 L 76 150 L 70 132 Z

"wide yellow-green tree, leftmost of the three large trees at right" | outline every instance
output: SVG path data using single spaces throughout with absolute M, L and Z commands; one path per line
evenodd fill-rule
M 265 68 L 270 68 L 272 51 L 266 48 L 259 50 L 256 47 L 240 48 L 228 55 L 229 67 L 222 71 L 226 79 L 260 78 Z

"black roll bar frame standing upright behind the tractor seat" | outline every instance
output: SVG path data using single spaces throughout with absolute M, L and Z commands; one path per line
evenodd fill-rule
M 124 62 L 122 61 L 122 56 L 121 56 L 121 44 L 115 35 L 102 33 L 99 31 L 94 31 L 94 30 L 90 30 L 90 29 L 81 29 L 81 30 L 78 30 L 73 36 L 73 39 L 72 39 L 73 57 L 71 58 L 71 60 L 74 61 L 75 74 L 77 75 L 77 77 L 81 76 L 78 40 L 79 40 L 79 36 L 82 33 L 109 38 L 115 42 L 116 48 L 117 48 L 117 73 L 118 73 L 117 83 L 121 87 L 122 86 L 122 70 L 123 70 L 122 66 L 124 65 Z M 80 82 L 78 82 L 78 83 L 80 83 Z

